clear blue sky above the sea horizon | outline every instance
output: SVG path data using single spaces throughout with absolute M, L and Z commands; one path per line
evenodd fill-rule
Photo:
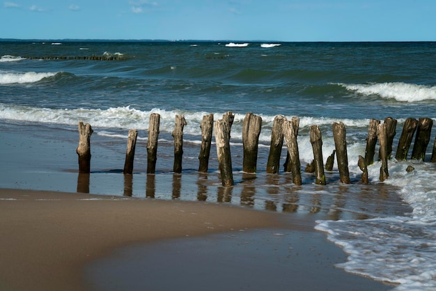
M 8 0 L 0 38 L 436 40 L 436 0 Z

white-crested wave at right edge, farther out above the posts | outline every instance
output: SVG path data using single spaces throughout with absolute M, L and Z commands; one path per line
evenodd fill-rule
M 380 95 L 380 97 L 395 99 L 399 102 L 436 100 L 436 86 L 407 84 L 403 82 L 338 85 L 362 95 Z

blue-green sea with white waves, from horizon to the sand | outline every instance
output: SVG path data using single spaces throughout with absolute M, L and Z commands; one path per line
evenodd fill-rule
M 391 283 L 436 290 L 436 165 L 397 161 L 407 118 L 436 121 L 436 42 L 250 42 L 194 40 L 0 40 L 0 187 L 86 192 L 114 198 L 195 200 L 312 217 L 343 248 L 336 267 Z M 201 120 L 231 111 L 235 186 L 222 187 L 215 137 L 208 173 L 198 173 Z M 147 174 L 148 126 L 159 113 L 156 172 Z M 256 173 L 242 171 L 242 123 L 262 118 Z M 176 115 L 183 131 L 182 173 L 173 173 Z M 266 173 L 274 117 L 299 118 L 302 185 L 282 167 Z M 372 118 L 397 120 L 389 178 L 381 162 L 357 166 Z M 79 121 L 91 124 L 91 173 L 78 174 Z M 324 161 L 332 123 L 346 129 L 350 184 L 336 162 L 326 185 L 313 160 L 311 125 L 322 132 Z M 138 130 L 133 175 L 123 175 L 127 133 Z M 378 146 L 378 145 L 377 145 Z M 414 171 L 406 171 L 413 166 Z

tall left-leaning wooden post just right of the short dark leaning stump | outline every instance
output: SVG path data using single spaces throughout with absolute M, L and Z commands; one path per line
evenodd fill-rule
M 338 163 L 339 179 L 344 184 L 350 184 L 345 125 L 343 123 L 333 123 L 332 128 L 334 146 L 336 148 L 336 162 Z

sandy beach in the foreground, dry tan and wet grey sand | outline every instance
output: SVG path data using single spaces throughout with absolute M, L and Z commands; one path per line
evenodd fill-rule
M 291 290 L 392 287 L 336 269 L 345 253 L 302 217 L 218 203 L 17 189 L 1 189 L 0 204 L 1 290 L 139 290 L 144 282 L 147 290 L 182 290 L 181 281 L 191 290 L 226 284 L 233 286 L 227 290 L 260 290 L 259 278 L 293 282 Z M 126 259 L 132 254 L 143 260 Z M 126 274 L 144 264 L 154 273 L 140 272 L 126 283 L 123 274 L 111 273 L 114 262 Z M 224 269 L 187 278 L 185 271 L 201 274 L 211 266 L 212 274 Z

